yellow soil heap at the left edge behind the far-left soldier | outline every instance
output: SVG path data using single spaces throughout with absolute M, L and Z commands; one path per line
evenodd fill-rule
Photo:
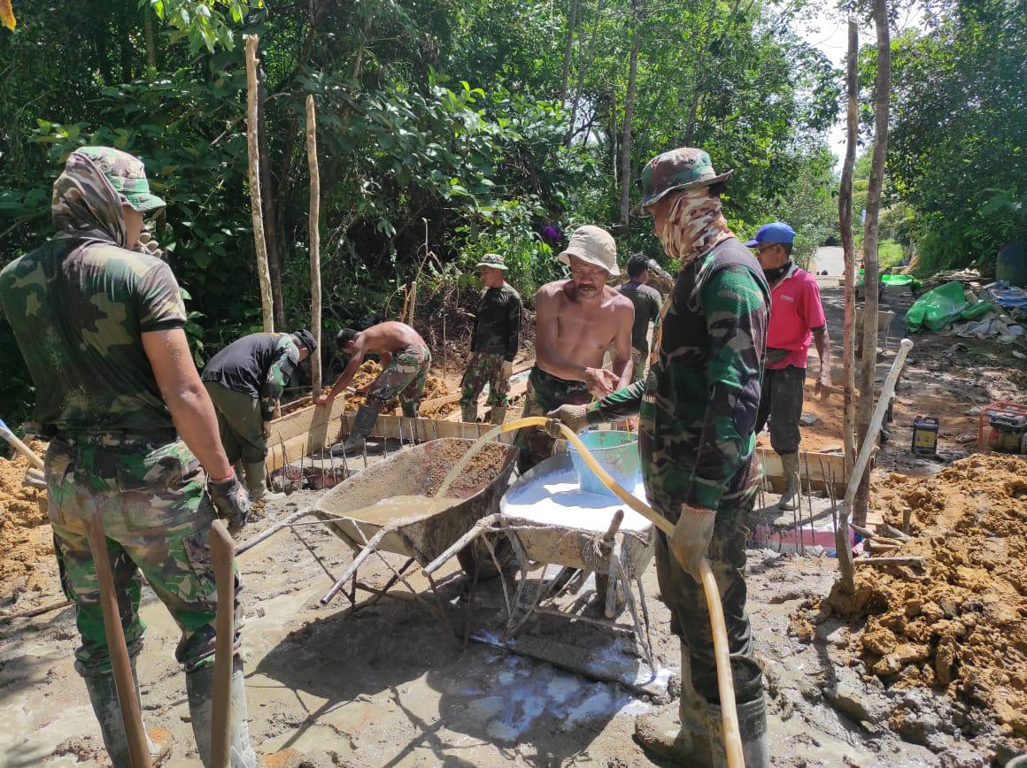
M 32 449 L 42 454 L 42 446 Z M 45 511 L 46 492 L 22 485 L 29 461 L 0 459 L 0 604 L 23 592 L 52 593 L 58 588 L 53 539 Z

